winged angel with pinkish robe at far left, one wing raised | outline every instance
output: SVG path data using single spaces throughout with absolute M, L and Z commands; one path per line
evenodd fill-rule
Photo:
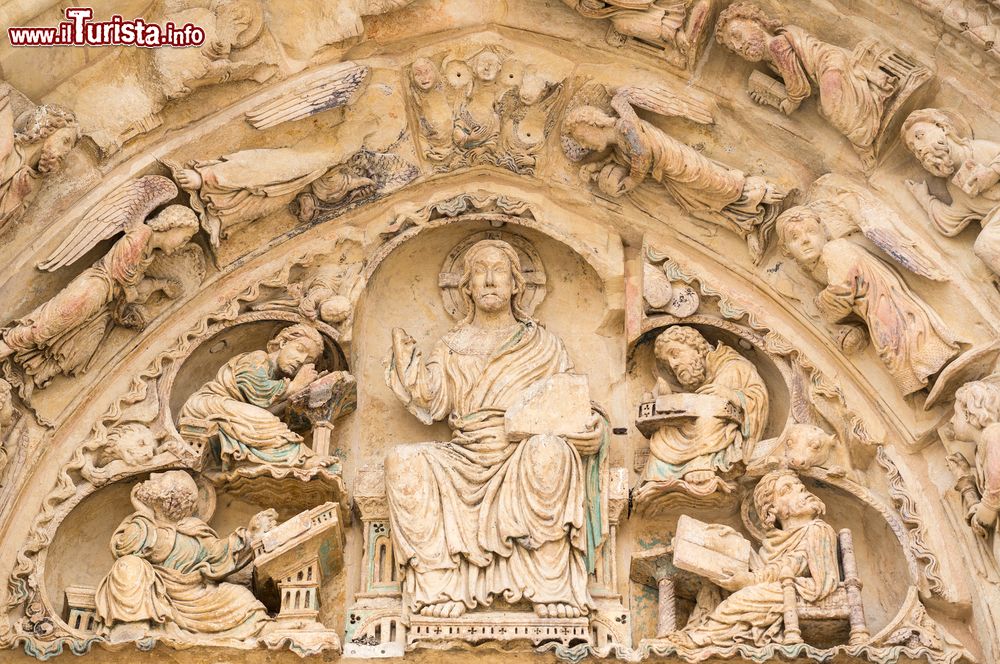
M 122 185 L 91 209 L 41 269 L 57 270 L 98 242 L 125 234 L 52 299 L 0 330 L 0 360 L 12 358 L 35 386 L 45 387 L 57 374 L 86 371 L 113 326 L 145 327 L 149 315 L 144 305 L 154 294 L 178 297 L 178 282 L 146 274 L 157 254 L 173 254 L 198 232 L 198 218 L 181 205 L 146 220 L 176 196 L 173 182 L 147 175 Z

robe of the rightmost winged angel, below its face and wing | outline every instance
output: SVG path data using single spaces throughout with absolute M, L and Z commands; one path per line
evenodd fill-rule
M 826 288 L 816 304 L 832 323 L 858 316 L 868 325 L 879 359 L 904 395 L 927 386 L 958 354 L 944 322 L 903 283 L 895 270 L 850 240 L 830 240 L 820 263 Z

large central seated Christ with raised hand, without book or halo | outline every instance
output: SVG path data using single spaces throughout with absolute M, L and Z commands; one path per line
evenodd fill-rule
M 393 330 L 389 386 L 420 421 L 452 429 L 450 441 L 399 445 L 385 462 L 409 609 L 457 618 L 499 597 L 542 618 L 579 617 L 592 608 L 587 576 L 607 532 L 607 422 L 592 412 L 577 434 L 510 439 L 508 408 L 572 363 L 522 308 L 525 280 L 506 242 L 473 245 L 459 288 L 468 314 L 426 363 Z

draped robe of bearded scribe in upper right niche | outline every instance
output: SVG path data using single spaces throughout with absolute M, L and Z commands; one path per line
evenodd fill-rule
M 748 461 L 767 424 L 767 387 L 753 363 L 719 344 L 705 358 L 705 382 L 695 394 L 708 394 L 739 407 L 742 422 L 714 415 L 688 418 L 680 426 L 664 426 L 649 441 L 645 479 L 680 480 L 709 470 L 728 472 Z M 714 486 L 714 483 L 712 483 Z

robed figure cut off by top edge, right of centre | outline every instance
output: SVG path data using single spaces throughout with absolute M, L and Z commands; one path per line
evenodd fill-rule
M 713 0 L 563 0 L 581 16 L 608 19 L 616 33 L 663 49 L 667 62 L 690 68 Z

